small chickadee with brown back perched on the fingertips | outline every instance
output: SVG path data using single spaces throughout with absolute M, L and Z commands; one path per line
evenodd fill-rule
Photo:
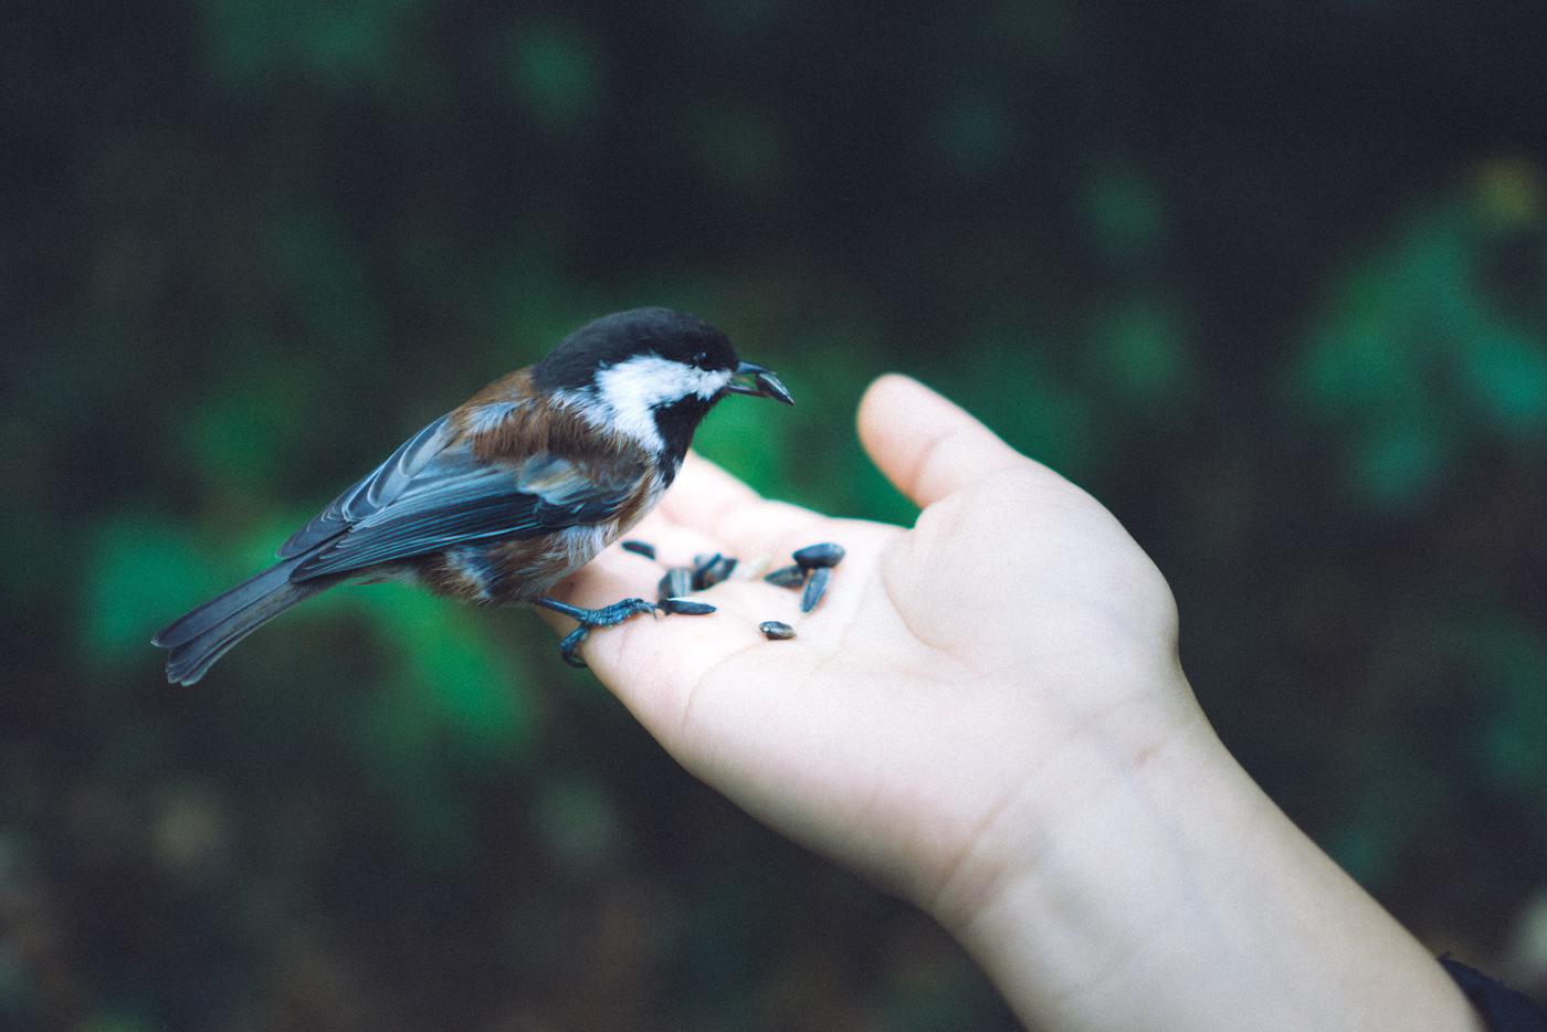
M 729 395 L 795 404 L 770 370 L 702 319 L 636 308 L 594 319 L 404 441 L 278 549 L 278 563 L 159 631 L 167 681 L 198 682 L 248 634 L 345 582 L 410 580 L 480 605 L 572 617 L 571 665 L 593 628 L 657 607 L 549 596 L 661 500 L 693 432 Z M 713 607 L 684 607 L 712 611 Z

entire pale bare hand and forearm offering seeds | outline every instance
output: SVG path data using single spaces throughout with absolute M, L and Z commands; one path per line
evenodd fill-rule
M 1033 1029 L 1482 1030 L 1221 744 L 1171 591 L 1100 503 L 902 376 L 871 385 L 859 432 L 913 529 L 692 456 L 630 534 L 674 563 L 848 549 L 809 616 L 730 580 L 695 596 L 713 616 L 591 634 L 586 662 L 687 771 L 933 914 Z M 614 548 L 562 597 L 657 577 Z M 766 641 L 767 619 L 798 637 Z

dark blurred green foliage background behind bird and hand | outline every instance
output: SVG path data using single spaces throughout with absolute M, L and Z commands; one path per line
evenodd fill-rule
M 888 368 L 1091 489 L 1252 774 L 1542 995 L 1539 11 L 9 6 L 0 1026 L 1010 1026 L 531 614 L 345 589 L 162 682 L 155 628 L 645 303 L 800 398 L 699 435 L 767 492 L 911 518 Z

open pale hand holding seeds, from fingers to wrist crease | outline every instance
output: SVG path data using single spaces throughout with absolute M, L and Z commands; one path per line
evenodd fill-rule
M 927 907 L 970 908 L 996 823 L 1046 811 L 1075 777 L 1066 743 L 1160 749 L 1199 713 L 1170 589 L 1106 509 L 914 381 L 877 381 L 859 424 L 922 507 L 913 529 L 769 501 L 690 456 L 631 534 L 670 565 L 719 551 L 777 566 L 837 542 L 848 557 L 814 613 L 797 591 L 733 579 L 695 596 L 716 614 L 639 617 L 593 634 L 583 656 L 758 818 Z M 653 596 L 659 576 L 614 548 L 565 591 L 602 605 Z M 769 619 L 798 637 L 764 639 Z

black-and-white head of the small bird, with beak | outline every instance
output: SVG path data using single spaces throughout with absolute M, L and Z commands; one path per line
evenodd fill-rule
M 726 334 L 670 308 L 634 308 L 586 323 L 532 368 L 532 381 L 597 425 L 676 461 L 726 395 L 795 404 L 772 371 L 736 357 Z

